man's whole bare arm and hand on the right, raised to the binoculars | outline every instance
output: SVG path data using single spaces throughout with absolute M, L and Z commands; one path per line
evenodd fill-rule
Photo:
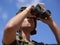
M 60 45 L 60 28 L 56 25 L 56 23 L 52 20 L 51 17 L 48 17 L 48 19 L 41 19 L 39 18 L 40 21 L 46 23 L 54 33 L 57 43 Z

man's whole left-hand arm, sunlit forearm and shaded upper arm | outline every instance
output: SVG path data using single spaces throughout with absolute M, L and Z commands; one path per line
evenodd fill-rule
M 21 13 L 18 13 L 6 24 L 4 28 L 3 39 L 2 39 L 3 43 L 10 44 L 15 40 L 16 31 L 20 28 L 22 21 L 28 15 L 31 8 L 32 8 L 32 5 L 27 7 Z

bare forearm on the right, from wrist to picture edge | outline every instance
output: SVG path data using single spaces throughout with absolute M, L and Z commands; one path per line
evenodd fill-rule
M 53 31 L 58 44 L 60 44 L 60 29 L 58 28 L 54 21 L 51 24 L 49 24 L 49 27 Z

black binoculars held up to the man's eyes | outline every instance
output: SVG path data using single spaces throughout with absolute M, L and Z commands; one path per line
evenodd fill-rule
M 25 10 L 27 7 L 21 7 L 20 11 Z M 48 16 L 51 15 L 50 10 L 45 10 L 43 4 L 37 4 L 36 6 L 33 6 L 30 12 L 32 15 L 35 15 L 36 17 L 46 19 Z

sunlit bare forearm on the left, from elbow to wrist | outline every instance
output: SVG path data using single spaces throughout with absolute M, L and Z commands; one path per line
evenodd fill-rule
M 21 13 L 18 13 L 16 16 L 14 16 L 8 23 L 10 27 L 14 28 L 20 28 L 21 23 L 23 22 L 24 18 L 27 16 L 26 10 L 24 10 Z

